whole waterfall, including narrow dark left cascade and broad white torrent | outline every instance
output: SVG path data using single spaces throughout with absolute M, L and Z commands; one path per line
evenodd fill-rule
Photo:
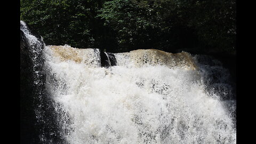
M 23 21 L 21 39 L 27 143 L 236 143 L 235 90 L 214 58 L 45 45 Z

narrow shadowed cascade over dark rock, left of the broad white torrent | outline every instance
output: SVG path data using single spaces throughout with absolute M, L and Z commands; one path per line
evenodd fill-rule
M 21 143 L 62 143 L 52 99 L 45 91 L 43 38 L 20 21 Z

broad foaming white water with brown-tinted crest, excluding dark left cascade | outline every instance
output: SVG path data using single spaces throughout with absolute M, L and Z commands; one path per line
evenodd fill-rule
M 236 143 L 225 102 L 206 90 L 191 55 L 114 55 L 117 65 L 104 68 L 98 49 L 45 47 L 47 91 L 68 143 Z

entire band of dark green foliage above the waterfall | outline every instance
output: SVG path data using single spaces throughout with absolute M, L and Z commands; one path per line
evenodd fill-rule
M 46 44 L 236 52 L 234 0 L 21 0 L 21 19 Z

